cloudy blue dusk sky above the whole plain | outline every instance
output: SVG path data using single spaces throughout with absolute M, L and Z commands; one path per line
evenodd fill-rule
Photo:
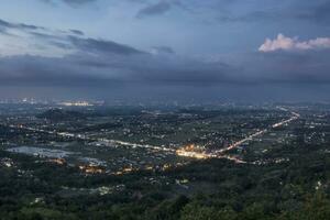
M 0 98 L 330 101 L 330 0 L 3 0 Z

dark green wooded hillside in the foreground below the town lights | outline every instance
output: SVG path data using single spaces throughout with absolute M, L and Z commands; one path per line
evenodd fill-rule
M 287 163 L 264 166 L 226 160 L 166 172 L 86 176 L 1 152 L 15 167 L 0 169 L 1 219 L 329 219 L 327 145 L 284 146 Z M 276 150 L 278 151 L 278 150 Z M 278 152 L 270 152 L 276 154 Z M 150 182 L 150 178 L 155 179 Z M 189 179 L 185 185 L 177 179 Z M 124 185 L 98 194 L 63 190 Z

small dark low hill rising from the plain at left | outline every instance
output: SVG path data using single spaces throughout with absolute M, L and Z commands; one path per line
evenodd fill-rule
M 52 121 L 82 120 L 87 118 L 87 116 L 82 112 L 63 109 L 51 109 L 36 117 Z

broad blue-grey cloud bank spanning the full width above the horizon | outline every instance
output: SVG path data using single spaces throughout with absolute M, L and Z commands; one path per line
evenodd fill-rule
M 59 58 L 9 56 L 0 58 L 2 84 L 46 84 L 64 79 L 73 84 L 108 82 L 140 85 L 253 85 L 253 84 L 330 84 L 330 51 L 274 52 L 237 55 L 233 62 L 208 62 L 182 57 L 168 46 L 145 53 L 107 40 L 84 37 L 72 31 L 50 30 L 1 21 L 6 29 L 22 29 L 42 45 L 69 52 Z M 41 31 L 42 30 L 42 31 Z

